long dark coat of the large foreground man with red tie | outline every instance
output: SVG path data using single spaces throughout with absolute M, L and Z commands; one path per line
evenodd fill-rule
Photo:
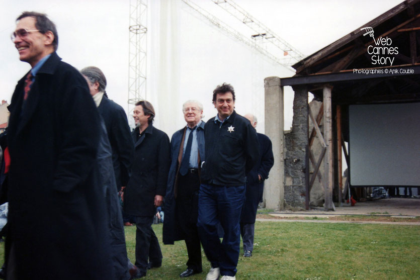
M 100 117 L 85 78 L 54 52 L 24 110 L 25 76 L 9 106 L 9 231 L 17 279 L 111 279 L 96 164 Z

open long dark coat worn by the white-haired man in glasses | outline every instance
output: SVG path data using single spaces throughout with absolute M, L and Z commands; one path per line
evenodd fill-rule
M 200 153 L 200 161 L 204 161 L 204 121 L 201 122 L 200 127 L 197 128 L 197 142 L 198 142 L 198 151 Z M 185 130 L 187 127 L 178 130 L 172 135 L 171 138 L 171 168 L 169 169 L 169 175 L 167 177 L 167 187 L 166 187 L 166 196 L 165 196 L 165 220 L 163 222 L 163 244 L 174 244 L 174 241 L 183 240 L 183 236 L 180 231 L 180 227 L 177 223 L 176 215 L 176 200 L 175 192 L 178 185 L 178 172 L 180 169 L 180 163 L 178 161 L 178 155 L 180 149 L 184 147 L 184 142 L 182 141 L 185 135 Z M 200 169 L 200 164 L 199 164 Z M 199 172 L 200 174 L 200 172 Z

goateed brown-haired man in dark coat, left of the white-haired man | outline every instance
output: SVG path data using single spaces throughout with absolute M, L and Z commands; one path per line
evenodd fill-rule
M 159 267 L 162 263 L 162 252 L 151 225 L 166 192 L 171 145 L 166 133 L 153 127 L 154 116 L 149 102 L 136 103 L 133 110 L 136 128 L 132 132 L 134 161 L 124 189 L 124 212 L 136 217 L 137 277 L 145 276 L 147 267 Z

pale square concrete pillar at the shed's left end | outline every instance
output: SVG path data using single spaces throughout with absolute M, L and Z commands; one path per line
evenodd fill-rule
M 264 79 L 265 133 L 273 143 L 274 166 L 264 185 L 266 208 L 284 208 L 284 106 L 279 77 Z

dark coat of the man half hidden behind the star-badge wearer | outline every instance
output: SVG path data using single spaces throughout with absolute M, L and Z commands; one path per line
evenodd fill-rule
M 260 157 L 253 169 L 246 175 L 245 203 L 242 207 L 240 222 L 253 224 L 257 216 L 257 208 L 264 192 L 264 180 L 268 178 L 271 167 L 274 164 L 273 149 L 270 138 L 257 133 Z M 263 180 L 259 182 L 258 174 Z

